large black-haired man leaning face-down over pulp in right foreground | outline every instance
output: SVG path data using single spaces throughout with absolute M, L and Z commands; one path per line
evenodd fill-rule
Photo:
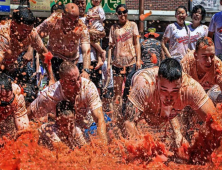
M 130 137 L 138 138 L 134 122 L 140 119 L 145 119 L 150 127 L 163 127 L 170 121 L 179 147 L 186 140 L 174 118 L 186 106 L 190 106 L 202 120 L 206 120 L 208 114 L 212 117 L 217 114 L 202 86 L 183 73 L 180 63 L 172 58 L 163 60 L 159 68 L 139 71 L 134 75 L 131 86 L 124 119 L 126 133 Z M 214 121 L 221 123 L 220 119 L 217 116 Z

